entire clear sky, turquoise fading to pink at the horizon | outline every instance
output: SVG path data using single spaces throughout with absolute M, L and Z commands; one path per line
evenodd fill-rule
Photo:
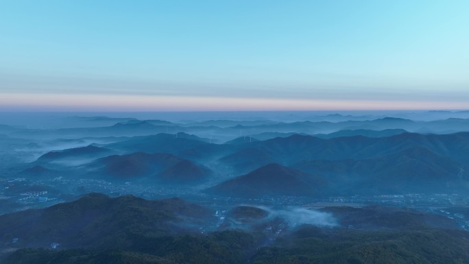
M 466 0 L 0 6 L 0 111 L 469 109 Z

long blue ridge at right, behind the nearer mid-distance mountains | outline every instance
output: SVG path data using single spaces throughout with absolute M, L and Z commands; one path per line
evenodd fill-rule
M 341 160 L 346 158 L 374 158 L 385 154 L 400 152 L 409 147 L 424 147 L 435 154 L 452 158 L 461 164 L 469 164 L 469 133 L 456 134 L 416 134 L 403 133 L 381 138 L 365 136 L 346 136 L 333 139 L 320 139 L 315 136 L 293 135 L 287 138 L 269 139 L 245 145 L 220 161 L 232 165 L 235 170 L 242 168 L 250 160 L 256 160 L 258 166 L 267 163 L 285 163 L 292 165 L 301 160 Z M 259 156 L 264 157 L 258 158 Z

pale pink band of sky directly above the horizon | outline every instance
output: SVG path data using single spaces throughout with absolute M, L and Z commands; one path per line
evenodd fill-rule
M 0 110 L 38 111 L 256 111 L 256 110 L 460 110 L 469 101 L 259 99 L 158 95 L 3 94 Z

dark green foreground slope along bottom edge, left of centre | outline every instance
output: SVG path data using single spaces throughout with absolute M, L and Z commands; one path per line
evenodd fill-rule
M 5 264 L 239 264 L 256 248 L 252 235 L 237 230 L 135 239 L 125 250 L 23 249 L 10 254 Z

